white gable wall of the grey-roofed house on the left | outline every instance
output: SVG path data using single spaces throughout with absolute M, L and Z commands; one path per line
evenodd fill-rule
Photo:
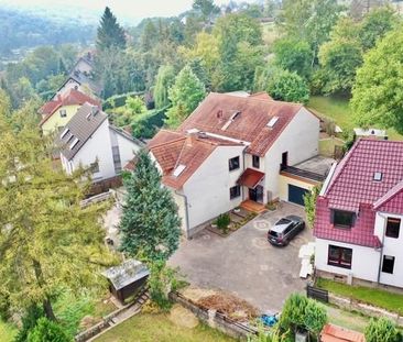
M 75 169 L 81 164 L 89 166 L 98 157 L 99 172 L 92 175 L 92 180 L 113 177 L 115 166 L 112 146 L 109 136 L 109 123 L 105 120 L 91 137 L 84 144 L 72 159 Z

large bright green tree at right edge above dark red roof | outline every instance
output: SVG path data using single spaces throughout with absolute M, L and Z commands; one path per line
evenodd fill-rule
M 390 32 L 364 55 L 352 88 L 351 107 L 362 126 L 379 124 L 403 133 L 403 30 Z

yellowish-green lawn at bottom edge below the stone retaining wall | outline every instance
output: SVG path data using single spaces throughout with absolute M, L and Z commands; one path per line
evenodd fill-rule
M 109 330 L 96 342 L 230 342 L 233 339 L 205 324 L 194 329 L 175 326 L 163 313 L 141 313 Z

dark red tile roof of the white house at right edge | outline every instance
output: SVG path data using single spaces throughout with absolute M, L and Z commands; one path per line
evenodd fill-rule
M 374 173 L 382 173 L 374 180 Z M 314 235 L 377 247 L 375 211 L 403 212 L 403 142 L 359 140 L 335 169 L 316 203 Z M 330 223 L 330 210 L 358 213 L 355 225 L 337 229 Z

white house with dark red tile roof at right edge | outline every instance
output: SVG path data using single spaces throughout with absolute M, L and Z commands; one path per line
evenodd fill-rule
M 359 140 L 316 203 L 319 274 L 403 287 L 403 142 Z

